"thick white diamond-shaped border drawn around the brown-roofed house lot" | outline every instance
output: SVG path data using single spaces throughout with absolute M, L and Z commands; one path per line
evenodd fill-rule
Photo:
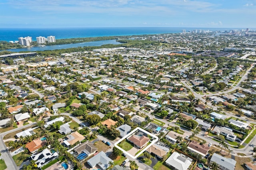
M 146 148 L 142 149 L 137 155 L 135 156 L 132 156 L 130 153 L 128 153 L 127 151 L 125 151 L 124 149 L 122 149 L 120 146 L 118 146 L 117 144 L 120 143 L 122 140 L 126 139 L 128 136 L 130 136 L 131 134 L 133 134 L 134 132 L 136 132 L 137 130 L 140 130 L 150 136 L 152 136 L 153 138 L 156 138 L 154 139 L 148 146 L 146 146 Z M 140 127 L 137 127 L 135 128 L 134 130 L 132 130 L 130 133 L 126 134 L 123 138 L 119 139 L 115 144 L 114 146 L 120 150 L 122 150 L 125 154 L 127 154 L 128 156 L 130 156 L 131 158 L 133 159 L 136 159 L 140 154 L 142 154 L 146 149 L 148 149 L 150 146 L 152 146 L 154 143 L 156 143 L 158 141 L 158 137 Z

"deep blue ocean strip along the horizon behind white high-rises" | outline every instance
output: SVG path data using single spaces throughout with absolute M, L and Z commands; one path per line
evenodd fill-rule
M 131 36 L 144 34 L 180 33 L 182 30 L 224 31 L 231 28 L 168 28 L 168 27 L 118 27 L 118 28 L 0 28 L 0 41 L 18 41 L 19 37 L 55 36 L 56 39 L 102 36 Z M 234 29 L 234 28 L 232 28 Z M 237 28 L 236 28 L 237 29 Z

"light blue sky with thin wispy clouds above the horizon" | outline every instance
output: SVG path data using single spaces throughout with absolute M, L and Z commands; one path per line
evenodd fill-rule
M 1 0 L 0 28 L 256 28 L 256 0 Z

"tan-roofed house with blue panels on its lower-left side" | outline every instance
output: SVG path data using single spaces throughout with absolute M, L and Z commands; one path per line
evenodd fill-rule
M 90 143 L 89 140 L 80 144 L 74 148 L 74 156 L 79 160 L 83 161 L 84 159 L 92 156 L 97 152 L 97 148 L 94 147 L 93 143 Z

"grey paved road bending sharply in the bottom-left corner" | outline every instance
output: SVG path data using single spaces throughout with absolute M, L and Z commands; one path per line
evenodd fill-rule
M 14 162 L 14 160 L 12 158 L 12 154 L 9 152 L 8 148 L 4 144 L 4 140 L 3 140 L 4 136 L 8 133 L 15 132 L 17 130 L 20 130 L 20 129 L 23 129 L 26 127 L 30 127 L 35 124 L 36 123 L 31 123 L 31 124 L 28 124 L 28 125 L 25 125 L 25 126 L 22 126 L 19 128 L 9 130 L 7 132 L 0 133 L 0 152 L 2 154 L 2 158 L 4 159 L 4 162 L 5 162 L 8 170 L 18 170 L 19 168 L 16 166 L 16 163 Z

